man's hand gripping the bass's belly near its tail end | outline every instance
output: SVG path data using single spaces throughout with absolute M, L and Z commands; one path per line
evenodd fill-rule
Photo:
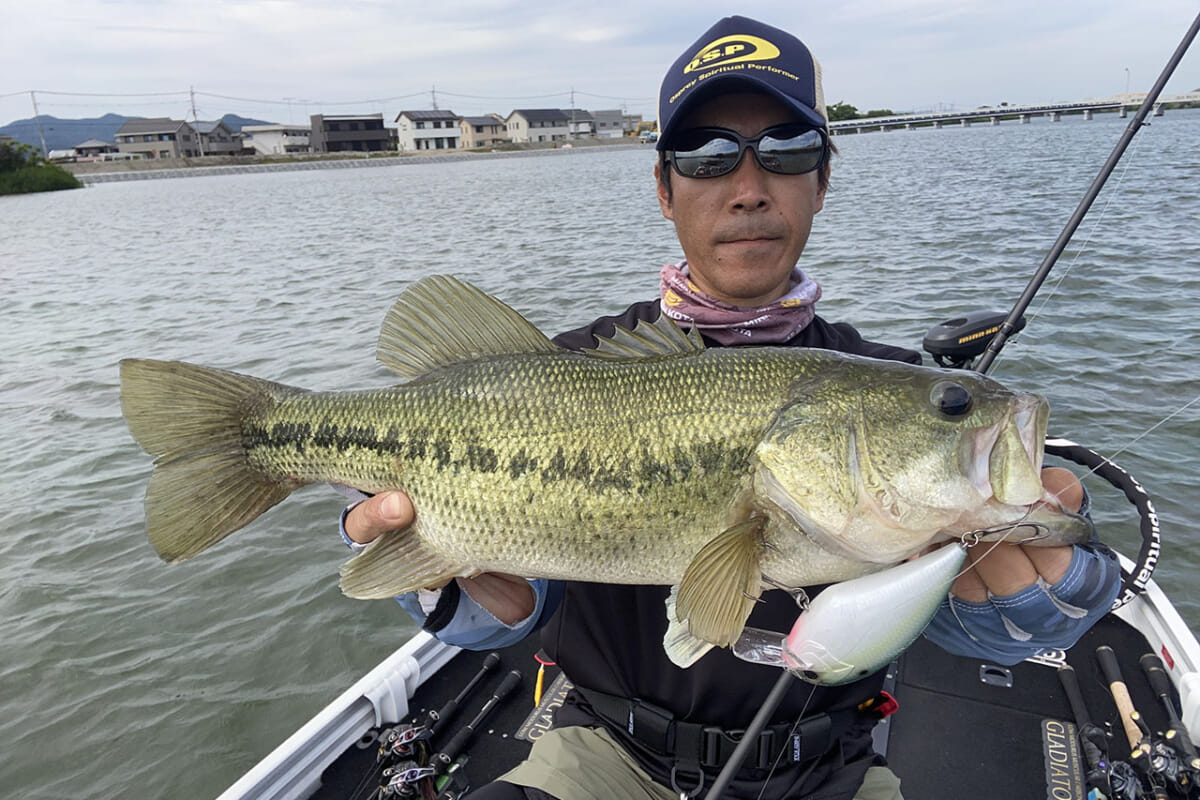
M 380 492 L 350 509 L 343 528 L 360 545 L 370 545 L 391 530 L 408 528 L 416 519 L 413 501 L 403 492 Z M 505 625 L 518 622 L 533 613 L 536 599 L 524 578 L 500 572 L 481 572 L 470 578 L 455 578 L 458 588 Z M 440 589 L 445 583 L 426 587 Z

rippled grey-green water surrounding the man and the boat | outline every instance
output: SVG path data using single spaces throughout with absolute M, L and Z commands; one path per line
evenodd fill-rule
M 1120 453 L 1154 495 L 1157 577 L 1198 630 L 1200 112 L 1152 122 L 992 374 L 1046 395 L 1052 433 Z M 1124 125 L 840 137 L 803 260 L 818 312 L 919 347 L 962 311 L 1007 311 Z M 679 257 L 652 163 L 594 149 L 0 198 L 5 794 L 215 796 L 413 631 L 392 602 L 340 594 L 342 500 L 325 487 L 161 563 L 120 359 L 383 385 L 384 311 L 434 272 L 547 332 L 583 324 L 650 296 Z M 1103 536 L 1135 551 L 1127 506 L 1088 485 Z

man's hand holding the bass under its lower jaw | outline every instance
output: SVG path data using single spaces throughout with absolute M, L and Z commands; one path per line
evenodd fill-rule
M 1069 469 L 1051 467 L 1042 470 L 1042 483 L 1069 511 L 1079 511 L 1084 503 L 1084 487 Z M 967 570 L 950 593 L 972 603 L 988 601 L 988 593 L 996 596 L 1015 595 L 1033 585 L 1038 576 L 1056 584 L 1067 575 L 1074 547 L 1025 547 L 1021 545 L 979 545 L 967 551 Z

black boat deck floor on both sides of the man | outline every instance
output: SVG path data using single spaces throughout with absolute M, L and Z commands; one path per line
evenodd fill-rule
M 504 674 L 523 673 L 521 686 L 497 704 L 476 729 L 469 759 L 461 771 L 480 786 L 521 760 L 529 740 L 548 724 L 546 705 L 557 702 L 553 668 L 547 670 L 542 709 L 533 704 L 538 664 L 536 637 L 502 652 L 499 667 L 481 681 L 463 708 L 433 741 L 434 750 L 470 722 L 492 696 Z M 877 729 L 880 750 L 901 777 L 905 796 L 976 798 L 1084 798 L 1082 762 L 1074 735 L 1074 716 L 1057 674 L 1064 657 L 1078 674 L 1092 721 L 1109 726 L 1111 759 L 1128 759 L 1129 745 L 1112 697 L 1096 661 L 1096 649 L 1108 644 L 1121 654 L 1118 662 L 1134 706 L 1153 730 L 1168 724 L 1166 714 L 1150 687 L 1138 658 L 1152 651 L 1130 625 L 1110 614 L 1084 639 L 1058 658 L 1022 662 L 1003 668 L 943 652 L 920 639 L 899 662 L 889 691 L 900 711 Z M 440 708 L 467 686 L 486 654 L 464 652 L 432 675 L 413 698 L 416 720 L 430 708 Z M 1176 698 L 1177 703 L 1177 698 Z M 378 745 L 372 738 L 353 747 L 323 775 L 314 795 L 326 800 L 371 798 L 380 786 Z M 388 795 L 396 796 L 396 795 Z M 414 795 L 415 796 L 415 795 Z

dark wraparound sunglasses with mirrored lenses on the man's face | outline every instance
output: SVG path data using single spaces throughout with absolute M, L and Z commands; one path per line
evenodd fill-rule
M 685 178 L 719 178 L 742 163 L 746 150 L 768 173 L 803 175 L 824 163 L 829 140 L 821 128 L 776 125 L 745 138 L 726 128 L 684 131 L 667 150 L 666 158 Z

